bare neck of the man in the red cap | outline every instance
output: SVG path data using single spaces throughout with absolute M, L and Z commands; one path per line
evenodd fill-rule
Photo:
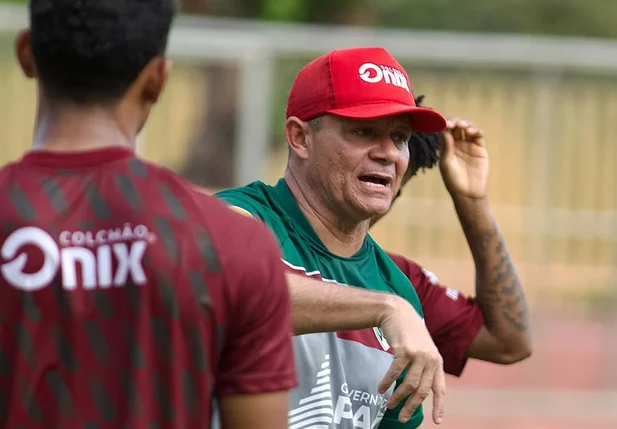
M 300 210 L 330 252 L 349 258 L 362 248 L 368 234 L 368 220 L 345 222 L 341 219 L 342 216 L 330 210 L 309 186 L 297 180 L 290 169 L 285 171 L 285 182 Z

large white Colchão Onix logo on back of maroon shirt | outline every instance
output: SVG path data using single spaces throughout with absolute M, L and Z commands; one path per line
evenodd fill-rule
M 156 236 L 145 225 L 98 231 L 62 231 L 55 240 L 47 231 L 29 226 L 9 235 L 0 248 L 2 277 L 14 288 L 35 292 L 50 285 L 60 273 L 65 290 L 124 286 L 129 278 L 146 284 L 143 256 Z M 38 249 L 42 258 L 31 249 Z M 37 268 L 26 270 L 29 258 Z M 38 263 L 42 260 L 42 263 Z

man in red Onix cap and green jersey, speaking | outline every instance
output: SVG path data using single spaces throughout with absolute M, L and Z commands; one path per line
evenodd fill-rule
M 284 178 L 217 194 L 270 227 L 292 273 L 299 387 L 290 427 L 413 429 L 431 390 L 441 422 L 443 362 L 420 300 L 368 230 L 400 188 L 412 130 L 445 127 L 437 112 L 415 105 L 407 74 L 387 51 L 332 51 L 306 65 L 291 89 Z M 312 311 L 300 317 L 296 308 Z M 324 318 L 337 332 L 299 335 Z

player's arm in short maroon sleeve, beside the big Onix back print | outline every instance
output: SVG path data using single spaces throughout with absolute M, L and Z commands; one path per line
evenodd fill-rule
M 286 429 L 287 392 L 297 376 L 281 255 L 270 232 L 247 219 L 226 238 L 220 261 L 231 317 L 214 386 L 219 418 L 223 429 Z

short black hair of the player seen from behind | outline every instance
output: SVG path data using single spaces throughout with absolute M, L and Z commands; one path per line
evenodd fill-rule
M 52 100 L 117 101 L 162 56 L 174 0 L 30 0 L 37 72 Z

